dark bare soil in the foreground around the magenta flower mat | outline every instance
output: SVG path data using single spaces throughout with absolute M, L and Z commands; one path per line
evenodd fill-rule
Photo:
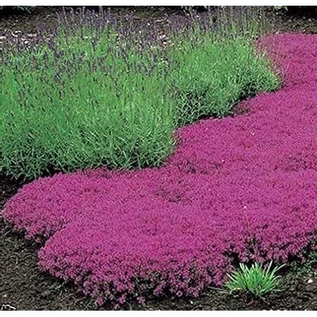
M 0 181 L 0 208 L 18 188 L 20 182 L 6 178 Z M 11 304 L 19 310 L 91 310 L 113 309 L 97 307 L 77 291 L 72 283 L 56 280 L 41 273 L 37 266 L 38 246 L 23 239 L 0 218 L 0 304 Z M 197 299 L 163 297 L 149 299 L 145 306 L 132 304 L 125 309 L 144 310 L 316 310 L 317 267 L 304 273 L 283 277 L 282 292 L 271 294 L 265 301 L 248 295 L 226 294 L 221 290 L 206 290 Z M 311 282 L 313 280 L 313 282 Z

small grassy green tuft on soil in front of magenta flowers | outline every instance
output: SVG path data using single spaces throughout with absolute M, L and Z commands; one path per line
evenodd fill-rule
M 229 280 L 225 287 L 230 292 L 249 292 L 255 297 L 264 295 L 276 290 L 280 278 L 278 271 L 282 266 L 272 268 L 272 261 L 267 268 L 263 268 L 262 263 L 253 263 L 248 268 L 244 263 L 240 263 L 240 269 L 229 274 Z

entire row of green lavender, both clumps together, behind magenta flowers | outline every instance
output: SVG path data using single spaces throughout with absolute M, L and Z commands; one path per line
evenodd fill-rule
M 176 128 L 225 116 L 279 85 L 253 29 L 225 35 L 194 24 L 162 49 L 99 22 L 65 24 L 49 43 L 3 50 L 0 172 L 159 166 Z

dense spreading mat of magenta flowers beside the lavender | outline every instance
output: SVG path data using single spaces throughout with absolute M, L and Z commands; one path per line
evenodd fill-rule
M 87 170 L 25 185 L 4 218 L 45 238 L 44 271 L 125 302 L 151 291 L 197 296 L 232 260 L 302 256 L 317 229 L 317 37 L 262 41 L 285 75 L 235 118 L 177 132 L 162 168 Z

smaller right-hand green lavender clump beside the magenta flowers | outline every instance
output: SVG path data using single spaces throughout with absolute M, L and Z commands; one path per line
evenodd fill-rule
M 195 28 L 178 37 L 170 59 L 178 65 L 172 77 L 180 125 L 228 115 L 241 99 L 280 85 L 266 54 L 235 30 L 219 37 Z

